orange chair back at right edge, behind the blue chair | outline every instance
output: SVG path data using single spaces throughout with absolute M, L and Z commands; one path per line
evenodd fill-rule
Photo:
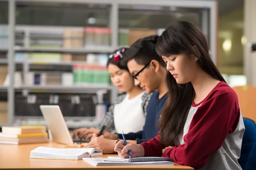
M 256 87 L 251 85 L 234 87 L 243 118 L 249 118 L 256 122 Z

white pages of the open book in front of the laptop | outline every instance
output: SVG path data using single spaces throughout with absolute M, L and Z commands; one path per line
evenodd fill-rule
M 52 148 L 38 147 L 31 151 L 31 154 L 52 155 L 52 156 L 81 156 L 90 153 L 93 148 Z

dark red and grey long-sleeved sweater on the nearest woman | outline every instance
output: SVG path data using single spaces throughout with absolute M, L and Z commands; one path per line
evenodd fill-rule
M 233 133 L 234 131 L 237 131 L 237 133 Z M 233 135 L 227 137 L 229 133 L 233 133 Z M 232 167 L 240 167 L 237 159 L 240 156 L 241 145 L 234 143 L 241 142 L 243 133 L 244 125 L 243 120 L 240 119 L 236 93 L 225 82 L 219 82 L 201 103 L 192 104 L 180 145 L 166 149 L 162 155 L 161 150 L 167 146 L 161 144 L 159 133 L 154 139 L 144 142 L 142 145 L 145 149 L 145 156 L 162 155 L 163 157 L 172 158 L 178 164 L 199 169 L 207 164 L 209 156 L 219 150 L 226 140 L 225 144 L 227 146 L 225 145 L 225 149 L 229 148 L 226 151 L 229 158 L 228 160 L 219 161 L 223 161 L 225 167 L 229 167 L 227 164 L 231 164 Z M 236 153 L 239 153 L 239 155 Z M 217 156 L 221 156 L 221 154 L 223 153 L 215 153 Z M 212 169 L 213 163 L 219 164 L 220 162 L 210 163 L 209 169 Z

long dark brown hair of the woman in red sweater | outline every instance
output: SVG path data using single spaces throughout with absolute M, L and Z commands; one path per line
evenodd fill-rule
M 166 57 L 180 53 L 194 54 L 198 57 L 197 62 L 202 70 L 215 79 L 226 82 L 210 57 L 203 33 L 192 23 L 179 21 L 170 25 L 157 40 L 156 51 L 160 56 Z M 160 139 L 167 146 L 175 146 L 183 132 L 195 90 L 191 82 L 177 84 L 170 72 L 166 74 L 166 85 L 168 97 L 158 122 Z

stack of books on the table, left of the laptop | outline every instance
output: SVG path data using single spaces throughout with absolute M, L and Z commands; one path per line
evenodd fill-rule
M 31 144 L 49 142 L 46 127 L 20 126 L 2 127 L 0 144 Z

